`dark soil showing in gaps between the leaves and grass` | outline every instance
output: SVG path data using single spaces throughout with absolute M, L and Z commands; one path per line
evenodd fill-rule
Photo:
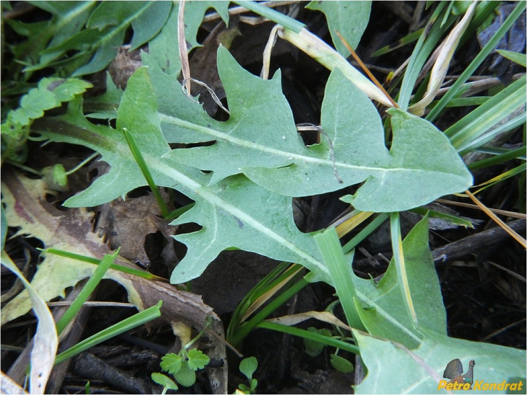
M 390 2 L 373 2 L 372 16 L 363 39 L 357 48 L 357 54 L 371 68 L 378 80 L 383 83 L 386 79 L 385 70 L 395 70 L 411 55 L 412 45 L 399 48 L 397 51 L 380 57 L 372 57 L 378 48 L 391 44 L 409 33 L 408 21 L 395 15 Z M 408 8 L 408 15 L 412 15 L 415 2 L 404 2 Z M 306 23 L 314 34 L 331 42 L 328 27 L 323 14 L 309 11 L 300 7 L 297 19 Z M 404 7 L 402 8 L 404 9 Z M 287 12 L 287 10 L 285 11 Z M 33 8 L 24 14 L 25 20 L 35 21 L 41 16 L 38 9 Z M 417 18 L 412 29 L 422 27 L 430 11 L 423 11 Z M 45 16 L 44 16 L 45 17 Z M 421 21 L 421 23 L 419 22 Z M 241 35 L 236 37 L 230 47 L 230 52 L 236 60 L 254 74 L 260 73 L 262 52 L 267 42 L 272 23 L 262 23 L 250 26 L 239 23 Z M 201 42 L 214 31 L 222 31 L 222 23 L 209 22 L 200 29 L 198 38 Z M 213 41 L 213 40 L 209 40 Z M 212 44 L 211 44 L 212 45 Z M 461 51 L 462 58 L 456 58 L 450 73 L 459 74 L 467 63 L 477 54 L 479 43 L 472 37 Z M 191 53 L 190 63 L 194 75 L 202 74 L 202 80 L 211 85 L 217 84 L 217 75 L 213 68 L 215 61 L 208 59 L 207 54 L 215 53 L 216 48 L 204 46 Z M 198 61 L 199 59 L 199 61 Z M 271 61 L 273 70 L 280 69 L 282 73 L 282 87 L 291 104 L 297 123 L 318 124 L 320 105 L 323 100 L 324 86 L 329 72 L 320 64 L 301 53 L 292 45 L 278 40 L 273 51 Z M 486 68 L 478 71 L 480 75 L 492 75 Z M 114 64 L 112 67 L 116 67 Z M 118 66 L 117 66 L 118 67 Z M 203 70 L 205 67 L 211 69 Z M 118 67 L 119 68 L 119 67 Z M 96 80 L 94 80 L 96 81 Z M 220 96 L 221 97 L 221 96 Z M 225 99 L 223 100 L 225 101 Z M 221 117 L 221 110 L 208 98 L 204 106 L 209 114 Z M 463 117 L 467 108 L 452 108 L 441 117 L 436 125 L 444 129 L 452 122 Z M 309 139 L 309 137 L 306 137 Z M 516 144 L 522 141 L 522 131 L 518 130 L 509 137 L 506 144 Z M 84 149 L 67 145 L 54 144 L 44 149 L 30 145 L 28 166 L 40 169 L 43 166 L 57 162 L 75 162 L 83 157 Z M 78 163 L 75 162 L 75 163 Z M 501 174 L 518 165 L 514 161 L 506 162 L 485 169 L 475 174 L 475 184 L 490 179 L 493 175 Z M 67 166 L 65 166 L 67 167 Z M 73 167 L 73 166 L 71 166 Z M 12 167 L 4 165 L 2 176 L 13 171 Z M 56 206 L 75 192 L 86 187 L 96 175 L 97 170 L 89 167 L 75 173 L 72 180 L 73 189 L 70 193 L 62 193 L 56 199 Z M 487 189 L 479 195 L 480 200 L 488 207 L 519 212 L 524 210 L 525 189 L 524 178 L 509 179 Z M 126 202 L 133 209 L 135 199 L 145 195 L 144 189 L 134 191 Z M 344 193 L 309 197 L 301 202 L 304 214 L 297 218 L 297 224 L 302 231 L 314 231 L 327 226 L 337 215 L 346 209 L 346 205 L 338 200 Z M 519 197 L 520 196 L 520 197 Z M 183 199 L 183 198 L 181 198 Z M 174 207 L 188 202 L 176 199 Z M 445 199 L 457 200 L 455 196 Z M 467 236 L 494 228 L 496 224 L 479 210 L 469 208 L 454 208 L 460 215 L 480 220 L 476 229 L 433 230 L 430 235 L 431 250 L 440 249 L 453 242 L 463 240 Z M 64 210 L 64 209 L 63 209 Z M 100 212 L 101 208 L 94 208 Z M 502 217 L 506 222 L 514 219 Z M 415 222 L 414 222 L 415 223 Z M 408 220 L 408 228 L 412 220 Z M 94 226 L 95 229 L 95 226 Z M 516 230 L 525 236 L 525 221 L 518 223 Z M 179 229 L 178 232 L 189 231 Z M 9 230 L 13 234 L 14 229 Z M 159 276 L 169 278 L 174 261 L 169 261 L 167 254 L 175 259 L 182 259 L 186 248 L 184 245 L 170 241 L 171 250 L 166 252 L 167 245 L 161 233 L 153 232 L 143 241 L 143 251 L 148 257 L 149 271 Z M 172 244 L 173 243 L 173 244 Z M 473 248 L 470 241 L 465 246 L 465 253 L 458 254 L 455 259 L 442 262 L 437 260 L 437 273 L 440 278 L 443 298 L 447 310 L 448 334 L 451 337 L 473 341 L 485 341 L 509 347 L 525 349 L 525 250 L 507 235 L 489 234 L 482 242 L 483 246 Z M 161 246 L 161 248 L 160 248 Z M 12 258 L 20 259 L 24 264 L 24 251 L 31 255 L 28 266 L 28 276 L 35 271 L 39 252 L 42 247 L 35 239 L 24 239 L 17 236 L 8 241 L 6 250 Z M 163 250 L 163 253 L 159 251 Z M 439 250 L 438 250 L 439 251 Z M 374 238 L 365 240 L 357 248 L 354 268 L 359 275 L 374 278 L 383 274 L 387 267 L 387 260 L 391 258 L 389 235 L 379 231 Z M 384 257 L 384 258 L 383 258 Z M 131 258 L 134 262 L 138 261 Z M 387 259 L 387 260 L 386 260 Z M 144 259 L 143 259 L 144 261 Z M 142 262 L 144 263 L 144 262 Z M 203 301 L 210 305 L 221 318 L 223 325 L 227 325 L 232 313 L 241 299 L 260 279 L 262 279 L 277 262 L 266 257 L 241 251 L 225 251 L 209 266 L 206 272 L 197 280 L 192 281 L 191 290 L 203 297 Z M 14 276 L 2 267 L 2 289 L 8 290 L 14 282 Z M 426 281 L 426 279 L 423 279 Z M 69 290 L 68 290 L 69 291 Z M 67 294 L 68 292 L 66 292 Z M 103 281 L 94 300 L 126 302 L 124 289 L 111 281 Z M 334 290 L 326 284 L 310 284 L 294 298 L 289 300 L 279 310 L 276 316 L 294 314 L 309 310 L 321 311 L 335 300 Z M 81 338 L 85 338 L 103 328 L 112 325 L 133 312 L 132 309 L 96 308 L 85 309 L 80 319 Z M 343 314 L 336 309 L 337 315 Z M 84 322 L 82 322 L 84 320 Z M 28 344 L 35 331 L 36 321 L 32 314 L 10 322 L 2 328 L 2 343 L 11 346 L 2 349 L 2 371 L 8 372 L 21 351 Z M 306 321 L 299 325 L 302 328 L 324 325 L 315 320 Z M 328 327 L 329 328 L 329 327 Z M 206 348 L 206 344 L 203 346 Z M 255 330 L 246 338 L 239 351 L 246 357 L 255 356 L 259 367 L 255 373 L 258 379 L 258 393 L 352 393 L 354 375 L 337 372 L 329 363 L 329 354 L 333 350 L 325 349 L 318 357 L 310 357 L 304 351 L 304 342 L 291 335 L 285 335 L 270 330 Z M 156 322 L 147 328 L 140 327 L 125 335 L 111 339 L 90 349 L 76 357 L 69 369 L 62 374 L 52 377 L 48 384 L 48 391 L 55 393 L 79 393 L 85 391 L 86 381 L 90 381 L 91 393 L 160 393 L 160 388 L 152 386 L 150 375 L 158 372 L 160 358 L 169 350 L 177 351 L 177 341 L 170 325 Z M 339 354 L 355 363 L 352 354 Z M 240 358 L 235 353 L 228 354 L 229 363 L 229 392 L 232 393 L 239 383 L 246 380 L 239 373 L 237 367 Z M 221 367 L 222 361 L 212 361 Z M 50 389 L 53 388 L 53 389 Z M 212 390 L 206 373 L 198 374 L 197 382 L 191 388 L 180 387 L 179 393 L 210 393 Z

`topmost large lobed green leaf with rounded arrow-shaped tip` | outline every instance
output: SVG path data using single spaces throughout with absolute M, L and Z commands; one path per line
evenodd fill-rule
M 389 212 L 429 203 L 472 183 L 448 139 L 421 118 L 391 110 L 394 141 L 388 151 L 375 107 L 338 70 L 326 86 L 320 144 L 307 147 L 281 93 L 279 73 L 261 80 L 222 47 L 218 68 L 231 112 L 226 122 L 211 120 L 180 93 L 174 78 L 159 68 L 150 71 L 167 141 L 215 141 L 165 157 L 213 171 L 211 184 L 243 173 L 270 191 L 305 196 L 367 180 L 349 201 L 359 210 Z

